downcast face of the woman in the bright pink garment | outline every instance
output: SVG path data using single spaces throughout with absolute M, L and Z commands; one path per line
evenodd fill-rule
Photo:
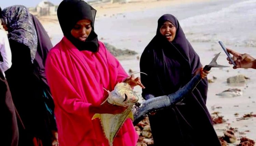
M 85 41 L 91 32 L 91 21 L 83 19 L 76 22 L 74 28 L 71 30 L 71 35 L 81 41 Z

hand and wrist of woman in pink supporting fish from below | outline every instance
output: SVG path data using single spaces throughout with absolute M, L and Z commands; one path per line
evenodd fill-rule
M 102 105 L 99 106 L 94 106 L 91 105 L 89 107 L 90 112 L 93 113 L 109 113 L 109 114 L 118 114 L 124 112 L 128 107 L 122 107 L 122 106 L 117 106 L 117 105 L 112 105 L 109 104 L 108 101 L 103 103 Z

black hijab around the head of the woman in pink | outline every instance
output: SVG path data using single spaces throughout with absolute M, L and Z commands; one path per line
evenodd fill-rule
M 98 52 L 98 36 L 94 32 L 96 10 L 82 0 L 63 0 L 57 10 L 61 30 L 77 49 Z M 85 42 L 71 35 L 71 30 L 79 20 L 91 21 L 92 30 Z

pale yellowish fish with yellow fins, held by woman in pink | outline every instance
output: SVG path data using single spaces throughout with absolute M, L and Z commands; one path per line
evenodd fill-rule
M 108 91 L 109 92 L 109 91 Z M 139 96 L 133 91 L 131 86 L 127 83 L 118 83 L 114 90 L 109 92 L 108 98 L 104 102 L 113 105 L 128 107 L 123 113 L 120 114 L 95 114 L 92 119 L 99 118 L 103 132 L 109 145 L 113 145 L 114 138 L 119 131 L 120 127 L 124 124 L 127 118 L 133 120 L 131 109 L 133 105 L 138 102 Z M 104 103 L 103 102 L 103 103 Z M 102 103 L 102 104 L 103 104 Z

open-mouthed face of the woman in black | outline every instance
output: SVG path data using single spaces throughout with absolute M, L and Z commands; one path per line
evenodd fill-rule
M 176 28 L 170 21 L 165 21 L 160 28 L 160 33 L 171 42 L 175 38 Z

